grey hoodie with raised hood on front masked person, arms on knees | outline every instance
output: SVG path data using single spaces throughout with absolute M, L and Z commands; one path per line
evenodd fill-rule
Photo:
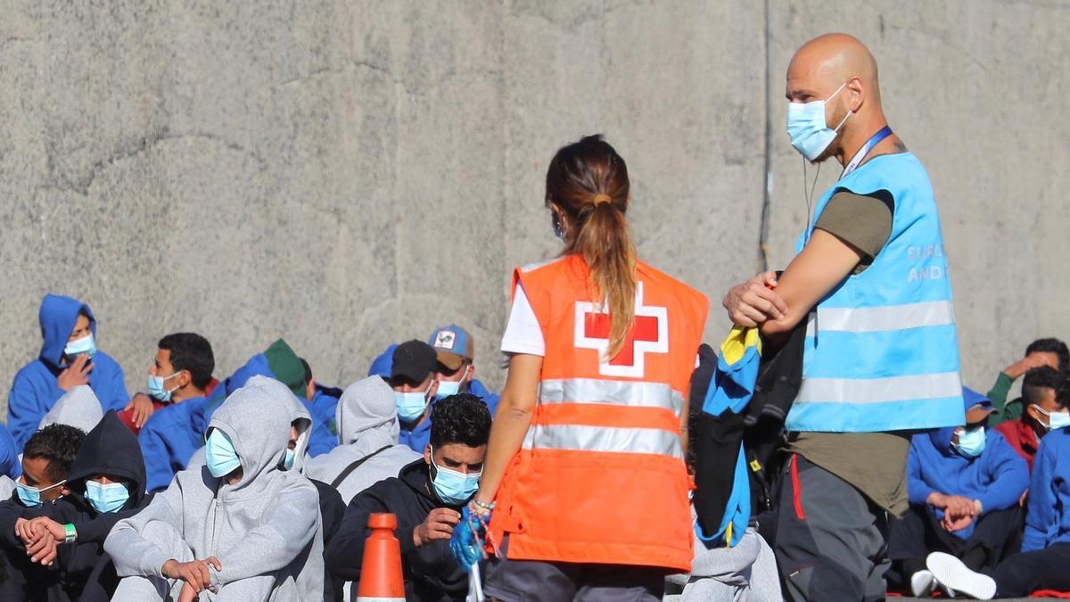
M 323 600 L 323 544 L 319 495 L 296 471 L 279 470 L 290 439 L 289 389 L 258 380 L 219 406 L 208 431 L 234 443 L 244 475 L 236 484 L 207 467 L 182 470 L 136 516 L 120 521 L 104 543 L 121 577 L 149 577 L 160 591 L 160 569 L 171 558 L 215 556 L 215 592 L 201 600 L 303 602 Z M 134 583 L 114 600 L 144 600 Z M 144 581 L 144 580 L 142 580 Z M 121 597 L 120 593 L 124 593 Z

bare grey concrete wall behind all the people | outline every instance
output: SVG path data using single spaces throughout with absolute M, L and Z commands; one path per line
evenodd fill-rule
M 767 122 L 774 267 L 805 220 L 783 72 L 828 30 L 871 45 L 932 175 L 967 382 L 1067 331 L 1059 2 L 6 4 L 0 383 L 57 291 L 132 389 L 177 330 L 220 375 L 284 335 L 345 385 L 448 321 L 500 386 L 510 269 L 556 252 L 547 162 L 595 132 L 629 163 L 641 256 L 710 296 L 718 338 L 758 268 Z

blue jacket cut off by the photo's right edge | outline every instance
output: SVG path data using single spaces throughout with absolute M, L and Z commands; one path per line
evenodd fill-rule
M 1070 542 L 1070 433 L 1058 428 L 1044 435 L 1033 461 L 1029 510 L 1025 515 L 1022 552 Z

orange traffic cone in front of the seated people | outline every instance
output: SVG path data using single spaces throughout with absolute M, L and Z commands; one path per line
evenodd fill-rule
M 379 513 L 368 517 L 371 535 L 364 544 L 356 602 L 404 602 L 401 544 L 394 537 L 397 527 L 398 520 L 393 514 Z

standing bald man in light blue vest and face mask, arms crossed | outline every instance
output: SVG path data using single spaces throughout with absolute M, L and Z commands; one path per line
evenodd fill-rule
M 788 269 L 733 287 L 724 307 L 769 348 L 806 329 L 793 338 L 802 386 L 785 421 L 776 541 L 785 593 L 883 600 L 885 517 L 907 508 L 910 434 L 964 424 L 939 216 L 924 167 L 888 126 L 861 42 L 806 43 L 786 96 L 792 146 L 843 174 Z

